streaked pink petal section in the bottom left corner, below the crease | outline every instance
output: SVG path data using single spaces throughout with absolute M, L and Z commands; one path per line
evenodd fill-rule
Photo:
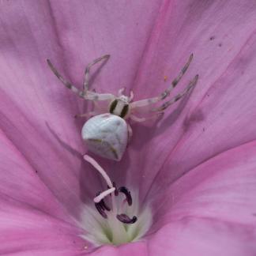
M 88 243 L 78 237 L 75 226 L 2 193 L 0 203 L 0 254 L 76 255 L 85 251 Z

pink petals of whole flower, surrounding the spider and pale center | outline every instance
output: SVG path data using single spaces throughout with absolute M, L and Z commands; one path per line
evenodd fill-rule
M 0 17 L 1 254 L 256 253 L 254 1 L 6 0 Z M 105 184 L 73 119 L 89 104 L 46 59 L 78 86 L 88 62 L 111 54 L 91 88 L 126 86 L 138 100 L 167 88 L 191 52 L 174 95 L 199 73 L 193 92 L 160 122 L 134 124 L 121 162 L 97 159 L 152 226 L 136 243 L 96 247 L 81 237 L 83 213 Z

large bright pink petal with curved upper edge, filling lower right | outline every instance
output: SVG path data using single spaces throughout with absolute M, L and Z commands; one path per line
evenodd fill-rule
M 228 150 L 159 191 L 152 255 L 254 255 L 255 154 L 256 141 Z

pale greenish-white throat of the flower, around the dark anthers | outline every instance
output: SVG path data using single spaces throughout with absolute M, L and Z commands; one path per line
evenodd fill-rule
M 140 209 L 137 194 L 132 194 L 133 205 L 123 203 L 123 198 L 116 197 L 118 213 L 126 213 L 128 216 L 137 216 L 134 224 L 123 224 L 116 218 L 116 213 L 107 213 L 104 219 L 95 209 L 94 205 L 85 205 L 81 214 L 81 228 L 85 230 L 82 238 L 88 240 L 96 246 L 103 244 L 113 244 L 115 246 L 122 243 L 130 243 L 140 240 L 148 232 L 152 224 L 152 213 L 149 206 Z

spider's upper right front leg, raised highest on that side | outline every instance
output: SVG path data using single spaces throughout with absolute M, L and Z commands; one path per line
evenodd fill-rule
M 169 88 L 165 89 L 164 92 L 162 92 L 160 94 L 160 96 L 152 97 L 150 99 L 145 99 L 145 100 L 134 101 L 133 103 L 130 104 L 130 107 L 132 107 L 132 108 L 133 107 L 145 107 L 149 104 L 155 104 L 156 102 L 158 102 L 160 100 L 164 100 L 167 96 L 170 95 L 170 92 L 172 91 L 172 89 L 175 88 L 176 85 L 178 85 L 179 81 L 183 77 L 183 74 L 186 73 L 186 70 L 190 66 L 190 62 L 192 61 L 192 59 L 193 59 L 193 54 L 190 55 L 190 58 L 186 62 L 185 66 L 183 66 L 183 69 L 179 72 L 178 77 L 176 77 L 171 82 L 171 86 Z

